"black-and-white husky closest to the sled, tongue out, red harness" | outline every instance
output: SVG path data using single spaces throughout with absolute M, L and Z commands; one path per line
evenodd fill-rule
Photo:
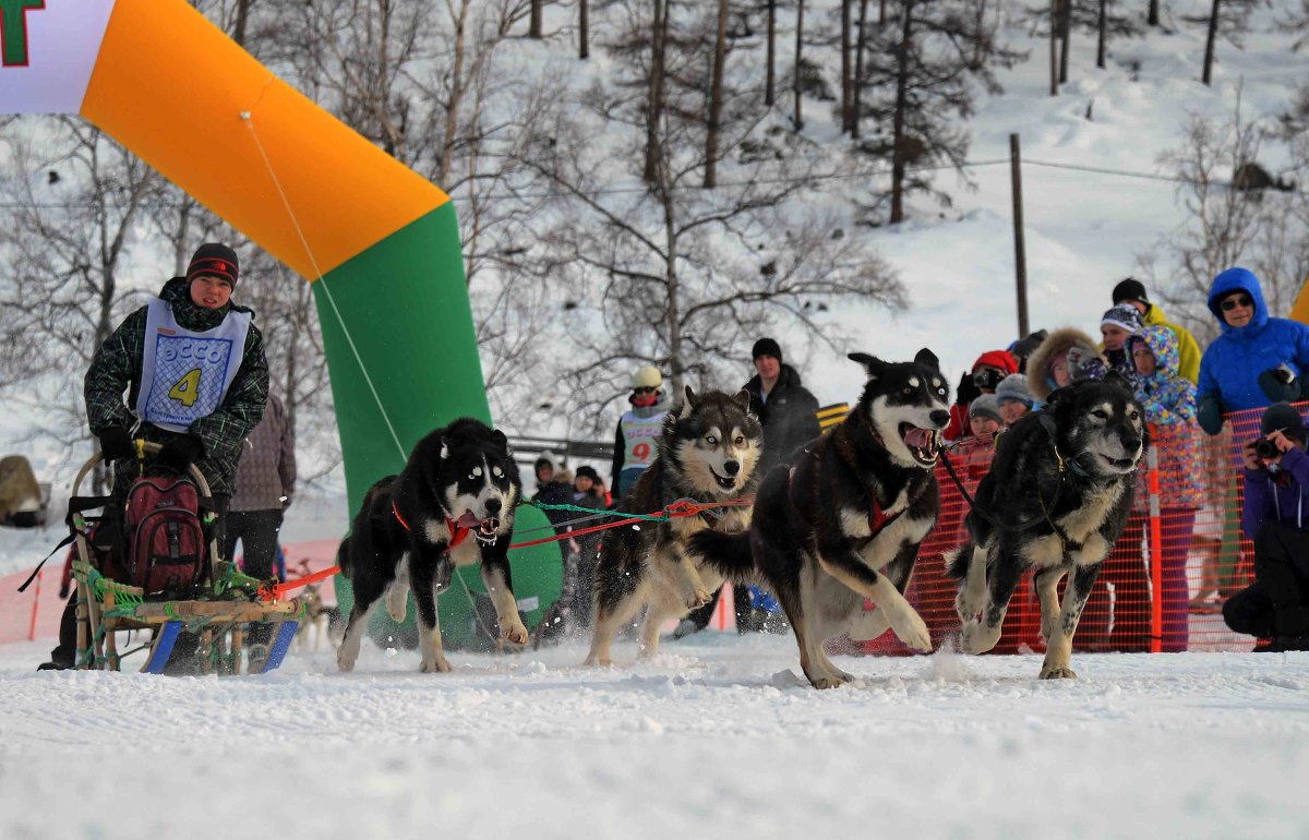
M 377 601 L 385 594 L 391 618 L 402 621 L 412 586 L 421 670 L 449 671 L 436 595 L 449 585 L 454 567 L 478 561 L 501 639 L 525 644 L 528 628 L 518 618 L 508 557 L 520 491 L 504 433 L 470 417 L 424 437 L 399 475 L 373 484 L 336 552 L 342 574 L 355 587 L 346 639 L 336 650 L 340 670 L 355 667 Z

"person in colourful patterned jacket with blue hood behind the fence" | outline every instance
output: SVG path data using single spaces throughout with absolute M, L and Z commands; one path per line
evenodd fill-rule
M 1145 327 L 1140 335 L 1127 339 L 1127 349 L 1136 365 L 1136 399 L 1145 407 L 1160 474 L 1162 649 L 1178 653 L 1186 650 L 1187 644 L 1190 590 L 1186 563 L 1191 530 L 1195 512 L 1204 500 L 1200 484 L 1204 464 L 1195 427 L 1195 385 L 1178 370 L 1177 336 L 1168 327 Z M 1145 488 L 1136 493 L 1135 513 L 1140 517 L 1149 514 Z

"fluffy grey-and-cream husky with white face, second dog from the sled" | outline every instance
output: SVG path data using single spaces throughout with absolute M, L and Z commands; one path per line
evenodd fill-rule
M 763 428 L 749 412 L 750 395 L 721 391 L 686 399 L 664 420 L 658 459 L 623 500 L 624 509 L 652 513 L 681 499 L 726 501 L 754 492 L 755 464 L 763 453 Z M 709 602 L 723 574 L 686 553 L 686 540 L 712 529 L 742 534 L 750 508 L 719 508 L 695 517 L 620 527 L 606 534 L 596 567 L 596 621 L 588 665 L 609 665 L 614 635 L 647 606 L 641 656 L 658 650 L 660 625 Z

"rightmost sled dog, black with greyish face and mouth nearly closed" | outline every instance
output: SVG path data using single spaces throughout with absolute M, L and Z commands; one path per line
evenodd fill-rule
M 1068 659 L 1077 620 L 1127 525 L 1148 444 L 1144 411 L 1117 374 L 1054 391 L 1000 436 L 965 519 L 970 539 L 949 565 L 961 578 L 954 607 L 965 653 L 995 646 L 1014 587 L 1035 569 L 1046 639 L 1041 678 L 1076 676 Z

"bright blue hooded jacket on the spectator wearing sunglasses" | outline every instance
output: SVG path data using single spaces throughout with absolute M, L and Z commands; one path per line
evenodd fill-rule
M 1229 326 L 1219 301 L 1232 292 L 1246 292 L 1254 301 L 1254 317 L 1244 327 Z M 1285 364 L 1296 377 L 1309 373 L 1309 326 L 1287 318 L 1270 318 L 1259 279 L 1246 268 L 1228 268 L 1213 277 L 1210 311 L 1223 335 L 1213 339 L 1200 359 L 1198 402 L 1216 396 L 1224 412 L 1264 408 L 1274 402 L 1259 387 L 1259 374 Z

